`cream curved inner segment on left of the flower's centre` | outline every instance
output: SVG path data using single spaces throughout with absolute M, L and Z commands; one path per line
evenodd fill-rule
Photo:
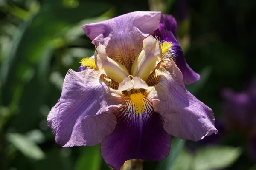
M 109 58 L 104 45 L 100 44 L 97 48 L 96 65 L 99 71 L 107 75 L 116 82 L 122 82 L 129 76 L 129 72 L 124 65 Z

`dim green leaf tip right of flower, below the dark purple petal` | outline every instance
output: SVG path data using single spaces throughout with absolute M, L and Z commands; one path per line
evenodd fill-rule
M 202 71 L 200 71 L 200 80 L 192 85 L 187 85 L 186 89 L 192 93 L 192 94 L 196 94 L 198 93 L 198 91 L 204 87 L 205 83 L 207 82 L 207 80 L 210 77 L 210 74 L 212 72 L 212 68 L 207 66 L 205 67 Z

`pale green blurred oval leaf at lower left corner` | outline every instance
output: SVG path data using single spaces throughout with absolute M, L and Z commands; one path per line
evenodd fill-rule
M 23 153 L 24 156 L 35 159 L 35 160 L 41 160 L 44 159 L 45 154 L 44 152 L 38 147 L 35 142 L 27 138 L 26 136 L 20 134 L 20 133 L 8 133 L 7 134 L 7 140 L 21 153 Z

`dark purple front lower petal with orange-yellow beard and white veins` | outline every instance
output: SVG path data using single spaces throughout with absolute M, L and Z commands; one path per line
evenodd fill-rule
M 129 159 L 162 161 L 170 149 L 171 136 L 163 129 L 163 120 L 154 113 L 151 102 L 145 97 L 140 101 L 140 93 L 131 95 L 116 113 L 115 130 L 101 144 L 103 159 L 115 170 Z

